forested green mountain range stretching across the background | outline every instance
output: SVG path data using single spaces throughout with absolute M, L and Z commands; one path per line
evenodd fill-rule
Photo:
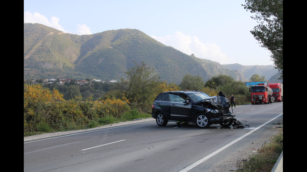
M 135 63 L 141 62 L 154 68 L 161 80 L 169 83 L 180 83 L 187 73 L 199 75 L 205 81 L 219 74 L 230 75 L 237 81 L 248 81 L 245 75 L 260 72 L 263 67 L 221 65 L 194 54 L 187 55 L 137 29 L 79 36 L 37 23 L 23 24 L 24 80 L 55 77 L 119 81 L 125 79 L 125 72 Z M 260 70 L 256 71 L 258 68 Z M 265 74 L 271 76 L 278 72 L 273 66 L 265 68 Z

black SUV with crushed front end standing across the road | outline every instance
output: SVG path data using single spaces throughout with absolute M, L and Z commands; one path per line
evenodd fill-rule
M 201 91 L 166 91 L 154 100 L 151 115 L 159 126 L 174 121 L 195 123 L 200 128 L 211 124 L 228 127 L 234 120 L 230 107 L 223 96 L 210 97 Z

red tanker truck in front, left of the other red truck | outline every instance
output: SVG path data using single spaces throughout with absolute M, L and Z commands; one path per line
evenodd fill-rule
M 268 95 L 273 95 L 273 91 L 268 85 L 265 83 L 258 83 L 258 85 L 253 85 L 249 88 L 249 92 L 251 92 L 251 101 L 252 105 L 255 104 L 268 104 L 269 98 Z M 271 100 L 273 97 L 271 97 Z M 272 100 L 274 102 L 274 100 Z

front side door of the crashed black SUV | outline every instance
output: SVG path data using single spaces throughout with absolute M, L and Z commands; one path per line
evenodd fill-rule
M 169 93 L 169 99 L 170 99 L 169 120 L 191 122 L 192 105 L 190 103 L 187 104 L 185 98 L 176 93 Z

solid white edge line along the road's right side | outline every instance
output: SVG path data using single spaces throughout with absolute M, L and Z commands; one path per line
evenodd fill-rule
M 283 115 L 283 113 L 281 113 L 280 115 Z M 259 128 L 263 127 L 264 125 L 268 124 L 268 123 L 271 122 L 272 120 L 278 118 L 280 115 L 278 115 L 278 116 L 276 116 L 275 118 L 273 118 L 273 119 L 267 121 L 266 123 L 264 123 L 264 124 L 258 126 L 257 128 L 251 130 L 250 132 L 246 133 L 245 135 L 242 135 L 241 137 L 237 138 L 236 140 L 233 140 L 232 142 L 230 142 L 230 143 L 224 145 L 224 146 L 221 147 L 220 149 L 218 149 L 218 150 L 212 152 L 211 154 L 209 154 L 209 155 L 203 157 L 202 159 L 200 159 L 200 160 L 196 161 L 195 163 L 193 163 L 193 164 L 187 166 L 185 169 L 180 170 L 179 172 L 187 172 L 187 171 L 193 169 L 193 168 L 196 167 L 197 165 L 200 165 L 201 163 L 205 162 L 206 160 L 208 160 L 208 159 L 211 158 L 212 156 L 216 155 L 217 153 L 221 152 L 222 150 L 226 149 L 227 147 L 233 145 L 234 143 L 236 143 L 237 141 L 243 139 L 243 138 L 246 137 L 247 135 L 252 134 L 254 131 L 256 131 L 256 130 L 258 130 Z

